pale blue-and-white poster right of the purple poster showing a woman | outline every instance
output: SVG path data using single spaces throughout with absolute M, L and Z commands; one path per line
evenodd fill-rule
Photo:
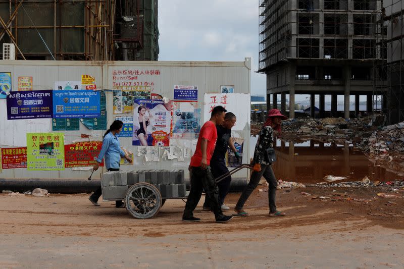
M 200 131 L 200 109 L 196 102 L 173 102 L 173 137 L 175 134 L 197 134 Z

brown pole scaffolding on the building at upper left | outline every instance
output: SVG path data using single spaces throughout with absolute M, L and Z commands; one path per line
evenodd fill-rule
M 0 40 L 19 59 L 112 59 L 113 0 L 1 0 Z

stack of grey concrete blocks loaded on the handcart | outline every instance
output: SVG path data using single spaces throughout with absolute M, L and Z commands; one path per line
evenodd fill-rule
M 104 199 L 123 199 L 128 188 L 138 182 L 153 184 L 163 198 L 185 197 L 184 170 L 138 170 L 103 174 Z

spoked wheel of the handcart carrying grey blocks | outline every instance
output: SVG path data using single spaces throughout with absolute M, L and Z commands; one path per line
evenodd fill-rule
M 148 219 L 155 216 L 161 205 L 160 191 L 149 183 L 136 183 L 126 191 L 126 210 L 137 219 Z

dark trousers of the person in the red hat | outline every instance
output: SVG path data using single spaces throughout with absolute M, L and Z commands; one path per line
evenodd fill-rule
M 276 181 L 274 171 L 272 170 L 272 167 L 270 165 L 261 165 L 260 172 L 255 171 L 252 172 L 248 185 L 244 188 L 236 204 L 237 210 L 241 210 L 243 208 L 245 201 L 251 195 L 252 191 L 254 191 L 255 188 L 257 188 L 258 183 L 260 183 L 261 177 L 264 177 L 269 184 L 268 186 L 269 211 L 271 213 L 276 212 L 275 195 L 278 182 Z

